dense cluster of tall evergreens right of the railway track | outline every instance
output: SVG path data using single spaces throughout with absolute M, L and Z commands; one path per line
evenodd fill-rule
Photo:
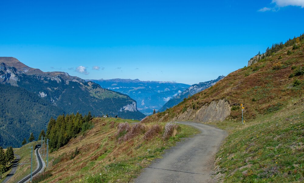
M 46 137 L 50 139 L 50 149 L 58 149 L 66 145 L 79 132 L 89 129 L 92 126 L 91 118 L 91 112 L 84 117 L 77 113 L 76 115 L 59 115 L 56 120 L 51 118 L 46 134 Z

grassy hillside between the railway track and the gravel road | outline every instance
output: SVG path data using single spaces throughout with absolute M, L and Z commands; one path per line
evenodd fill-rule
M 67 145 L 49 154 L 47 173 L 52 176 L 44 182 L 129 182 L 152 159 L 160 157 L 164 149 L 182 137 L 199 132 L 180 125 L 175 131 L 176 136 L 165 140 L 162 133 L 166 123 L 160 123 L 159 129 L 154 130 L 151 130 L 154 125 L 151 123 L 136 127 L 133 124 L 128 131 L 118 133 L 119 124 L 125 121 L 130 124 L 139 122 L 94 118 L 91 130 L 78 134 Z M 131 129 L 134 133 L 129 134 Z M 145 135 L 147 131 L 151 133 Z

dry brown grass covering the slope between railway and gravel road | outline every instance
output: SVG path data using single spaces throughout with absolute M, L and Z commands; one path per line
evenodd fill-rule
M 114 128 L 112 128 L 113 120 L 117 124 Z M 116 172 L 118 175 L 113 176 L 120 176 L 122 182 L 127 182 L 142 167 L 147 166 L 153 158 L 158 157 L 164 147 L 170 145 L 170 143 L 171 145 L 174 144 L 174 140 L 165 143 L 158 131 L 157 138 L 154 136 L 149 141 L 145 140 L 145 132 L 149 131 L 154 124 L 126 125 L 124 121 L 127 120 L 94 118 L 94 128 L 84 134 L 78 134 L 67 145 L 50 153 L 47 171 L 50 171 L 53 176 L 44 182 L 78 182 L 79 179 L 85 180 L 88 176 L 99 176 L 100 173 L 104 175 L 105 171 L 110 173 L 109 170 L 105 170 L 105 167 L 112 165 L 116 167 L 116 165 L 119 165 L 118 162 L 125 162 L 131 169 L 125 170 L 126 172 L 123 174 L 119 173 L 122 171 L 119 169 L 118 173 Z M 129 120 L 129 122 L 131 121 Z M 104 125 L 105 123 L 106 125 Z M 161 126 L 164 125 L 164 123 L 161 123 L 157 126 L 162 131 Z M 183 127 L 183 129 L 188 128 L 190 127 Z M 126 129 L 128 130 L 127 133 L 121 136 L 119 142 L 116 136 L 117 132 Z M 185 135 L 184 132 L 179 133 Z M 175 138 L 178 139 L 178 137 Z M 70 155 L 74 153 L 76 147 L 80 152 L 71 160 Z M 151 153 L 148 153 L 147 149 L 151 149 Z M 55 161 L 58 163 L 53 165 Z

